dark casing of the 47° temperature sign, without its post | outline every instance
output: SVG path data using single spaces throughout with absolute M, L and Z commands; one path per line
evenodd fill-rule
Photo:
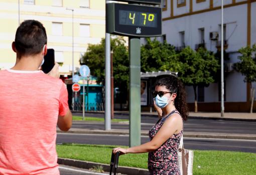
M 107 4 L 107 33 L 156 37 L 162 35 L 162 9 L 149 6 Z

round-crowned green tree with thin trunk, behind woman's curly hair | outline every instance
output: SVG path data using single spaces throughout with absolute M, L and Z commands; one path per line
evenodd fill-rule
M 195 95 L 195 112 L 197 112 L 197 87 L 213 83 L 218 68 L 218 60 L 212 52 L 199 48 L 197 52 L 190 47 L 183 49 L 179 55 L 181 69 L 179 77 L 185 85 L 193 86 Z

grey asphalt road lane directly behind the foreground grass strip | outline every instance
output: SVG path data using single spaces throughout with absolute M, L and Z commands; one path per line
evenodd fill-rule
M 149 141 L 147 136 L 141 137 L 141 142 Z M 58 133 L 57 144 L 81 143 L 81 144 L 107 144 L 129 145 L 129 135 L 105 135 L 105 134 L 73 134 Z M 184 146 L 188 149 L 199 150 L 228 150 L 256 153 L 256 140 L 215 139 L 215 138 L 184 138 Z

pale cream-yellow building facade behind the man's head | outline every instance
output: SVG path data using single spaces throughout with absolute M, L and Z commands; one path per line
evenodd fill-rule
M 14 66 L 11 46 L 19 23 L 25 20 L 38 20 L 46 28 L 48 48 L 55 50 L 61 77 L 72 75 L 73 40 L 76 72 L 88 44 L 105 37 L 104 0 L 0 0 L 0 14 L 0 69 Z

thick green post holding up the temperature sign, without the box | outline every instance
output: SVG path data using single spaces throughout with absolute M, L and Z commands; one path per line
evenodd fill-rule
M 130 99 L 129 145 L 141 144 L 141 40 L 129 38 Z

